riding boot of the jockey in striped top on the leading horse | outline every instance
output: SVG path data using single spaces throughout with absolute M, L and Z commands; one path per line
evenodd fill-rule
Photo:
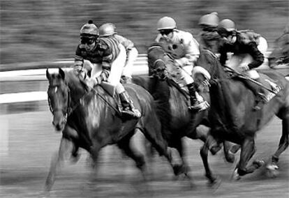
M 129 98 L 128 93 L 126 93 L 126 91 L 119 93 L 119 99 L 121 100 L 122 116 L 131 119 L 140 118 L 141 116 L 140 111 L 138 109 L 135 109 L 135 107 L 133 107 L 133 102 Z

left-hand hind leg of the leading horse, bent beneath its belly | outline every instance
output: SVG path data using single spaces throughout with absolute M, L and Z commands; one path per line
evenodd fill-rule
M 147 167 L 145 165 L 144 155 L 138 151 L 137 148 L 134 148 L 131 145 L 131 137 L 135 134 L 135 130 L 129 132 L 128 135 L 123 137 L 119 142 L 117 142 L 117 146 L 128 155 L 128 157 L 132 158 L 135 161 L 135 166 L 140 169 L 142 172 L 142 176 L 144 181 L 147 181 Z

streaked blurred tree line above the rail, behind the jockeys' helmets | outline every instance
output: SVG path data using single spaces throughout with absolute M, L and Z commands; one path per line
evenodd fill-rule
M 116 24 L 140 53 L 156 36 L 156 22 L 175 18 L 179 29 L 198 36 L 198 20 L 218 12 L 237 29 L 261 33 L 273 47 L 288 23 L 288 0 L 1 0 L 0 63 L 73 58 L 79 29 L 89 19 Z

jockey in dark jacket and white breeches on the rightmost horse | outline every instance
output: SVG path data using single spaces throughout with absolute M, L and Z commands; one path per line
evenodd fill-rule
M 225 43 L 219 49 L 221 64 L 225 66 L 228 59 L 227 52 L 232 52 L 233 55 L 229 59 L 227 66 L 237 70 L 237 72 L 245 73 L 255 81 L 260 82 L 260 75 L 255 68 L 262 65 L 264 55 L 258 50 L 257 43 L 247 39 L 246 36 L 242 35 L 242 32 L 237 31 L 232 20 L 222 20 L 219 24 L 218 33 L 225 40 Z M 245 80 L 245 83 L 257 96 L 253 109 L 261 109 L 262 105 L 268 102 L 268 91 L 249 79 Z

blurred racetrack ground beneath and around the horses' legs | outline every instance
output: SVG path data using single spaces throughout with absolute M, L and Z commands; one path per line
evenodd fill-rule
M 58 150 L 61 138 L 51 121 L 48 110 L 0 115 L 0 197 L 42 196 L 52 153 Z M 258 132 L 253 159 L 268 160 L 280 136 L 281 121 L 274 118 Z M 143 151 L 140 138 L 142 135 L 135 139 Z M 262 167 L 239 181 L 230 180 L 234 165 L 224 161 L 223 152 L 210 154 L 212 170 L 222 181 L 218 188 L 212 188 L 204 176 L 201 142 L 186 139 L 186 144 L 193 188 L 188 181 L 175 181 L 168 162 L 158 155 L 148 163 L 153 176 L 145 185 L 134 162 L 123 158 L 115 146 L 107 146 L 101 152 L 97 172 L 89 167 L 84 150 L 76 164 L 67 162 L 57 175 L 50 197 L 289 197 L 288 150 L 281 155 L 276 178 L 269 178 Z

